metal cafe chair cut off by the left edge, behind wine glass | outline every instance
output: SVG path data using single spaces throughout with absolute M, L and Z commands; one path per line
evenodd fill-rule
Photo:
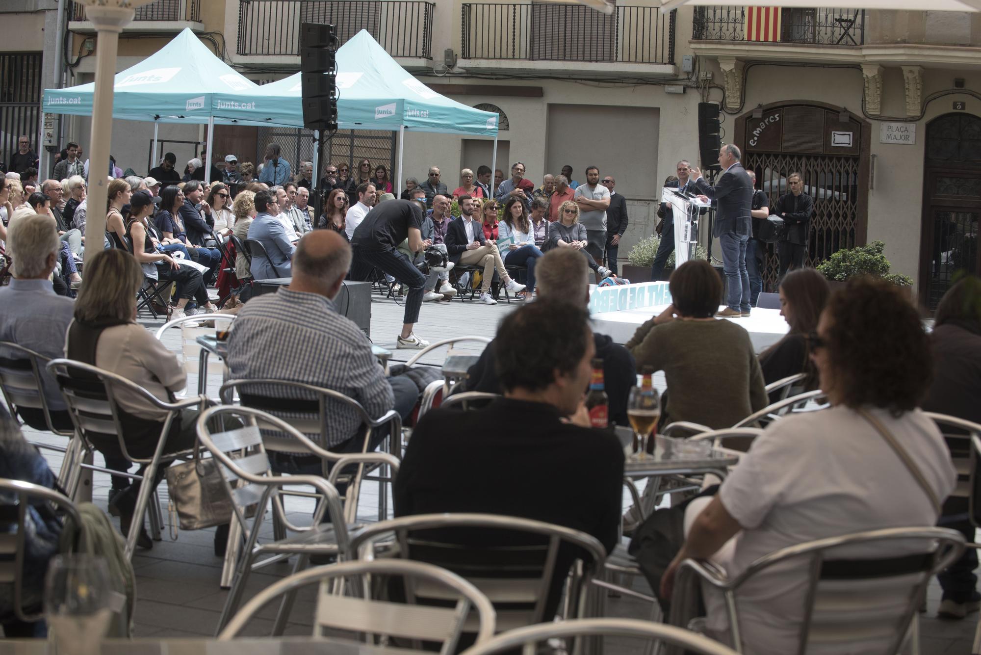
M 0 584 L 13 584 L 14 616 L 19 621 L 34 623 L 44 618 L 43 612 L 31 614 L 24 604 L 24 560 L 27 527 L 27 508 L 32 500 L 44 500 L 72 518 L 81 529 L 78 509 L 66 496 L 39 484 L 19 479 L 0 479 L 0 523 L 16 527 L 5 531 L 0 538 Z

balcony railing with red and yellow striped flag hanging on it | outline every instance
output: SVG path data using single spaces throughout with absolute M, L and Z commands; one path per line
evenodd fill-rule
M 692 40 L 771 41 L 819 45 L 862 45 L 865 11 L 858 9 L 769 9 L 704 6 L 695 8 Z M 777 13 L 779 12 L 779 13 Z M 748 22 L 749 21 L 749 22 Z

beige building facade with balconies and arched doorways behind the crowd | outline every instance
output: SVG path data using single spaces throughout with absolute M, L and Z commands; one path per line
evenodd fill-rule
M 66 80 L 77 84 L 91 80 L 97 43 L 70 6 Z M 18 19 L 35 30 L 44 23 L 45 56 L 50 14 Z M 124 31 L 119 69 L 189 26 L 243 74 L 269 81 L 298 70 L 305 21 L 333 23 L 341 41 L 367 29 L 435 90 L 498 111 L 505 176 L 521 161 L 537 183 L 565 165 L 579 181 L 587 166 L 616 177 L 631 217 L 622 257 L 652 233 L 675 163 L 697 161 L 697 105 L 708 101 L 721 105 L 723 141 L 742 148 L 771 202 L 789 173 L 804 177 L 816 211 L 811 263 L 881 239 L 893 271 L 913 277 L 928 307 L 955 270 L 981 268 L 981 14 L 683 7 L 665 15 L 625 0 L 606 16 L 535 2 L 156 0 Z M 36 51 L 36 39 L 22 45 L 31 44 Z M 87 120 L 62 122 L 61 142 L 84 147 L 86 137 Z M 151 139 L 149 124 L 118 121 L 113 153 L 143 172 Z M 161 126 L 160 139 L 182 167 L 204 129 Z M 312 155 L 309 134 L 265 127 L 218 128 L 214 152 L 261 161 L 270 140 L 294 160 Z M 486 139 L 408 133 L 404 145 L 400 181 L 435 165 L 452 188 L 461 168 L 490 165 Z M 338 133 L 331 147 L 335 161 L 394 165 L 390 132 Z M 767 278 L 772 285 L 772 257 Z

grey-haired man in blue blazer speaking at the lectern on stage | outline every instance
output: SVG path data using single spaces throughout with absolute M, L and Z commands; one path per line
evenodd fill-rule
M 749 316 L 749 272 L 746 246 L 752 235 L 752 180 L 740 164 L 739 148 L 728 143 L 719 150 L 719 165 L 725 172 L 715 186 L 709 186 L 701 171 L 692 169 L 695 185 L 716 203 L 712 235 L 722 247 L 722 269 L 726 274 L 726 304 L 719 316 Z

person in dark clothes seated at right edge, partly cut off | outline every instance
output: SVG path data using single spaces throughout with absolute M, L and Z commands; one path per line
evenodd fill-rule
M 787 277 L 792 275 L 793 271 Z M 933 347 L 933 382 L 921 407 L 926 412 L 981 424 L 981 403 L 978 402 L 981 397 L 981 280 L 977 277 L 957 280 L 941 298 L 930 332 L 930 344 Z M 948 445 L 954 446 L 955 442 Z M 968 511 L 967 498 L 948 498 L 940 525 L 959 530 L 968 542 L 974 541 L 974 527 L 966 519 Z M 978 565 L 977 552 L 974 548 L 965 549 L 960 559 L 937 577 L 944 589 L 938 616 L 963 619 L 971 612 L 977 612 L 978 601 L 981 601 L 974 575 Z

